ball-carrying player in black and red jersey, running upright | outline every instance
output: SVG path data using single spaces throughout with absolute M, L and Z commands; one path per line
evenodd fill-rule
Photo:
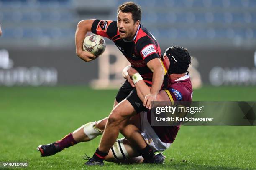
M 94 60 L 89 52 L 82 50 L 85 35 L 91 31 L 97 35 L 102 35 L 113 40 L 118 49 L 133 65 L 148 86 L 151 86 L 149 94 L 142 102 L 134 88 L 131 79 L 127 80 L 115 98 L 114 108 L 111 111 L 108 122 L 105 126 L 100 145 L 97 148 L 93 159 L 87 165 L 101 164 L 108 151 L 118 138 L 120 129 L 127 123 L 129 117 L 136 115 L 146 108 L 151 108 L 151 101 L 156 100 L 163 84 L 164 69 L 161 61 L 161 50 L 155 37 L 140 24 L 141 9 L 133 2 L 126 2 L 118 7 L 118 21 L 105 20 L 82 20 L 77 25 L 76 31 L 76 50 L 77 55 L 84 61 Z M 130 83 L 131 85 L 130 85 Z M 138 80 L 137 80 L 138 81 Z M 145 143 L 140 133 L 136 138 L 129 139 L 138 143 L 138 152 L 144 159 L 154 158 L 151 148 Z M 148 158 L 151 155 L 151 158 Z

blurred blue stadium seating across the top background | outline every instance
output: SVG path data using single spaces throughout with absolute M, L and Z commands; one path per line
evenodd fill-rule
M 88 3 L 87 3 L 88 2 Z M 28 42 L 38 45 L 74 45 L 79 20 L 115 20 L 116 8 L 125 0 L 0 0 L 0 45 Z M 255 0 L 134 0 L 141 5 L 141 22 L 161 42 L 182 45 L 256 46 Z M 96 3 L 96 2 L 95 2 Z M 112 4 L 112 5 L 110 5 Z M 92 10 L 93 6 L 93 10 Z M 4 40 L 4 41 L 3 41 Z M 51 41 L 52 40 L 52 41 Z M 58 43 L 59 40 L 59 43 Z M 60 41 L 61 40 L 61 41 Z M 212 40 L 212 43 L 207 43 Z M 239 43 L 237 43 L 239 41 Z

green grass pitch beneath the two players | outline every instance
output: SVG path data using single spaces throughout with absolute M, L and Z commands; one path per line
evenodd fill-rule
M 255 170 L 256 127 L 182 126 L 164 152 L 164 165 L 85 167 L 100 137 L 79 143 L 51 157 L 41 158 L 40 144 L 61 139 L 80 125 L 108 116 L 117 90 L 88 87 L 0 87 L 0 162 L 28 162 L 24 169 L 170 169 Z M 193 100 L 252 100 L 255 87 L 203 87 Z M 0 169 L 4 169 L 3 166 Z M 23 168 L 16 168 L 23 169 Z

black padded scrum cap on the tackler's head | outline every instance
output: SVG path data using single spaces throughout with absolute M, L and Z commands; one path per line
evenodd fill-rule
M 166 49 L 165 54 L 170 61 L 170 67 L 168 69 L 169 74 L 182 74 L 187 72 L 191 64 L 191 56 L 187 48 L 172 46 Z

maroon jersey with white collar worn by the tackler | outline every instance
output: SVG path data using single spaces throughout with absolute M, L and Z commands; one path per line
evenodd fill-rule
M 172 101 L 192 101 L 192 85 L 189 75 L 185 75 L 177 80 L 171 80 L 169 88 L 165 90 Z M 148 122 L 151 122 L 151 112 L 147 113 Z M 165 143 L 173 143 L 179 131 L 179 126 L 151 126 L 159 139 Z

